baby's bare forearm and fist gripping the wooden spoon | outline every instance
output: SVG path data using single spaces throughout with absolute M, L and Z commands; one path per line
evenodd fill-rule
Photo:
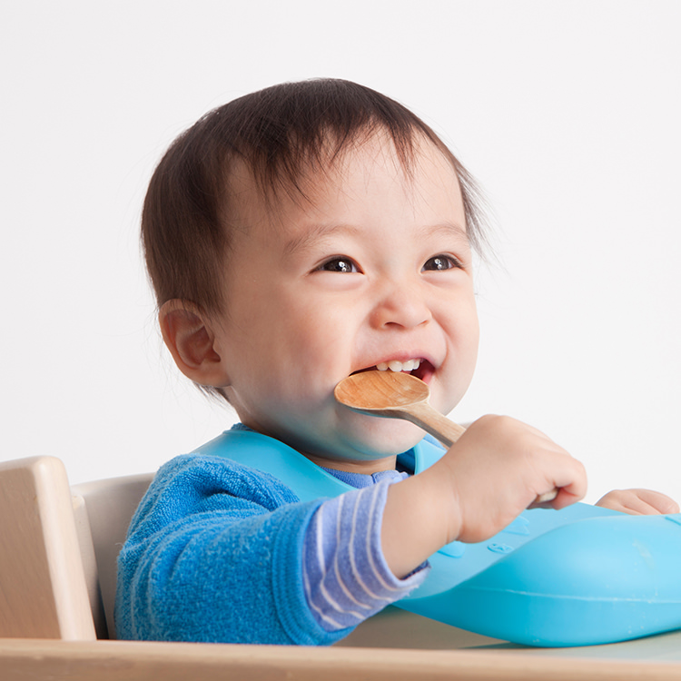
M 546 435 L 508 417 L 475 421 L 442 459 L 390 487 L 381 542 L 390 569 L 408 575 L 439 548 L 505 528 L 539 495 L 564 508 L 587 490 L 584 467 Z

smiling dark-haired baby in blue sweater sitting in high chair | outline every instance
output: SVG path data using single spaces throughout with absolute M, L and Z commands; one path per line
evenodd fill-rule
M 584 496 L 581 464 L 517 420 L 478 419 L 414 475 L 434 447 L 419 428 L 333 398 L 378 369 L 418 376 L 442 413 L 457 405 L 479 340 L 476 198 L 425 123 L 345 81 L 246 95 L 173 143 L 143 209 L 163 340 L 241 423 L 143 498 L 119 558 L 119 637 L 329 644 L 418 587 L 445 544 L 492 537 L 553 489 L 557 509 Z M 231 459 L 242 435 L 349 490 L 301 501 L 248 465 L 251 445 Z M 646 490 L 599 503 L 678 510 Z

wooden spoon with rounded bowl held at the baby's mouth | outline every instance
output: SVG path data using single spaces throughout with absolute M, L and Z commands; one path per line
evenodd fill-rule
M 428 403 L 429 387 L 416 376 L 396 371 L 362 371 L 352 374 L 333 390 L 338 402 L 369 416 L 406 419 L 430 433 L 445 447 L 451 447 L 466 429 Z M 558 489 L 541 494 L 532 507 L 556 498 Z

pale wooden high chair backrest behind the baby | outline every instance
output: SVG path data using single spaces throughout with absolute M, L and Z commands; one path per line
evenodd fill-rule
M 0 462 L 0 637 L 114 637 L 116 555 L 151 479 L 72 490 L 54 457 Z

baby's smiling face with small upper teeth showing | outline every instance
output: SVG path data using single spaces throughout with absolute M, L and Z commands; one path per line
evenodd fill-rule
M 443 413 L 472 378 L 479 328 L 459 183 L 429 143 L 413 170 L 405 176 L 375 139 L 327 179 L 309 177 L 310 202 L 284 196 L 268 208 L 245 170 L 232 184 L 227 303 L 214 330 L 230 400 L 246 425 L 331 467 L 389 468 L 423 436 L 337 404 L 346 376 L 401 366 Z

